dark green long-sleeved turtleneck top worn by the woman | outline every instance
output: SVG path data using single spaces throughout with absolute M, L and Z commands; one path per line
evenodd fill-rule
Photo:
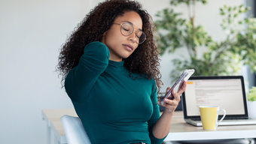
M 108 60 L 105 44 L 84 47 L 78 66 L 65 80 L 65 89 L 92 144 L 157 144 L 152 133 L 160 117 L 154 80 L 129 75 L 123 62 Z

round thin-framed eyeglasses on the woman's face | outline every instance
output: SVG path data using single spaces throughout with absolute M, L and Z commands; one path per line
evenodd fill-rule
M 131 25 L 130 23 L 126 22 L 123 24 L 119 24 L 119 23 L 113 23 L 113 24 L 117 24 L 120 25 L 120 31 L 121 34 L 123 34 L 124 36 L 129 36 L 130 34 L 133 33 L 133 31 L 137 31 L 136 32 L 136 43 L 142 44 L 145 40 L 146 40 L 146 34 L 142 31 L 142 30 L 137 30 L 133 28 L 133 25 Z

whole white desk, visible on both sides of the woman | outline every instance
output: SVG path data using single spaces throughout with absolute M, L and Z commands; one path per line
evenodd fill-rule
M 50 144 L 51 136 L 54 143 L 67 143 L 66 136 L 60 121 L 62 115 L 78 116 L 74 109 L 42 110 L 43 119 L 47 124 L 47 144 Z M 194 127 L 183 119 L 182 111 L 173 115 L 171 128 L 165 141 L 184 141 L 200 139 L 239 139 L 256 138 L 256 124 L 237 126 L 218 126 L 216 130 L 203 130 L 203 127 Z

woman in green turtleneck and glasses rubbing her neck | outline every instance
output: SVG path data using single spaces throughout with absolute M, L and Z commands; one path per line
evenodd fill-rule
M 169 133 L 186 84 L 165 100 L 160 116 L 151 21 L 136 1 L 104 1 L 62 46 L 62 81 L 92 143 L 161 143 Z

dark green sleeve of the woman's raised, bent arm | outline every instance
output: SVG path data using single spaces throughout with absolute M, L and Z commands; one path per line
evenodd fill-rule
M 93 42 L 84 47 L 78 66 L 72 68 L 65 80 L 65 89 L 72 101 L 86 98 L 94 83 L 108 66 L 109 51 L 105 44 Z

